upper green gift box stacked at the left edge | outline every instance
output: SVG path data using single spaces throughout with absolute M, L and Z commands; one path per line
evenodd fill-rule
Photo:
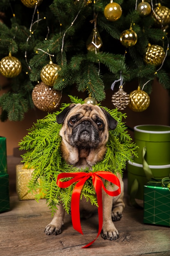
M 6 138 L 0 137 L 0 175 L 7 173 Z

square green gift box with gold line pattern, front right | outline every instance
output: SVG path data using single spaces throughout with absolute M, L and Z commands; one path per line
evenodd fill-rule
M 164 184 L 164 185 L 163 185 Z M 170 226 L 170 181 L 151 179 L 144 186 L 144 223 Z

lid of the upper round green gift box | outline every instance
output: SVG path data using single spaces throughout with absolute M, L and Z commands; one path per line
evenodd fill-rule
M 135 139 L 143 141 L 170 141 L 170 126 L 139 125 L 134 127 Z

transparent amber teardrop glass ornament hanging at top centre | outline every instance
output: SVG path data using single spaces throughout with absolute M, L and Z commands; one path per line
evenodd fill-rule
M 99 51 L 99 49 L 102 47 L 102 44 L 102 38 L 99 35 L 99 31 L 97 29 L 93 29 L 86 42 L 87 50 Z

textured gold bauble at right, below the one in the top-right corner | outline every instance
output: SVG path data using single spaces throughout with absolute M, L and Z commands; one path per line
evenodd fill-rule
M 165 52 L 163 47 L 159 45 L 148 45 L 146 54 L 144 56 L 145 63 L 159 66 L 162 64 L 164 58 Z

